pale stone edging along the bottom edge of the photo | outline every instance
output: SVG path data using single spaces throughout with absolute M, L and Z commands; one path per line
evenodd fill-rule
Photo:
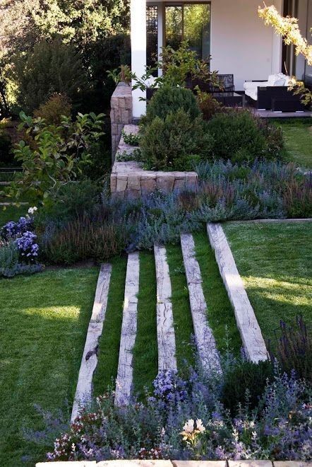
M 73 461 L 39 462 L 36 467 L 312 467 L 301 461 Z

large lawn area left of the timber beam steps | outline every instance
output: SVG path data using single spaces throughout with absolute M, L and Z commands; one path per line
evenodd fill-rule
M 22 429 L 42 429 L 35 403 L 55 411 L 73 400 L 97 274 L 66 269 L 0 280 L 1 466 L 45 459 Z

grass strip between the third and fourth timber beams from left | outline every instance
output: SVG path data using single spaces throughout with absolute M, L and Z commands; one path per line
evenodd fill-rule
M 178 368 L 184 362 L 193 363 L 192 335 L 193 321 L 191 316 L 188 287 L 184 272 L 183 257 L 180 246 L 167 246 L 167 261 L 172 284 L 172 311 L 174 315 L 174 332 L 176 335 L 176 362 Z

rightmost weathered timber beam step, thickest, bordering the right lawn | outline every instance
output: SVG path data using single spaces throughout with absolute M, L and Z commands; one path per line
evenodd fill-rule
M 220 224 L 207 224 L 207 231 L 212 249 L 215 250 L 220 275 L 234 308 L 237 327 L 247 357 L 255 363 L 266 360 L 268 359 L 268 351 L 265 347 L 265 341 L 222 226 Z

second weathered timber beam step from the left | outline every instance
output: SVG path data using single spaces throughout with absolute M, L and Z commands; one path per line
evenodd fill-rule
M 136 342 L 138 315 L 138 287 L 140 275 L 139 253 L 128 255 L 124 311 L 121 325 L 119 364 L 116 378 L 115 404 L 128 405 L 133 380 L 133 347 Z

